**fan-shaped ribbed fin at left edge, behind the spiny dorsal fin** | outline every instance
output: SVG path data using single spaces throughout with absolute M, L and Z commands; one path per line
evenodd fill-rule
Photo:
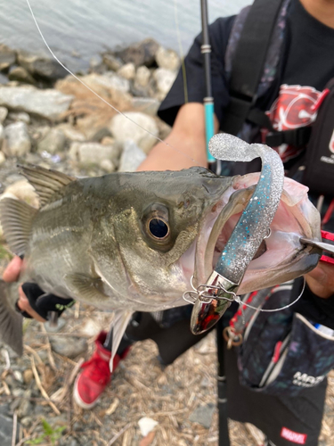
M 31 224 L 38 210 L 26 202 L 5 197 L 0 200 L 0 222 L 12 252 L 23 255 L 29 241 Z

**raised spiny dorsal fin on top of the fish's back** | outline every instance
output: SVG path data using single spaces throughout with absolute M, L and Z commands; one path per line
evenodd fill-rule
M 41 166 L 19 166 L 20 172 L 24 175 L 29 183 L 34 186 L 41 203 L 44 206 L 50 201 L 53 194 L 61 190 L 63 186 L 67 186 L 77 178 L 69 177 L 62 172 L 52 169 L 45 169 Z

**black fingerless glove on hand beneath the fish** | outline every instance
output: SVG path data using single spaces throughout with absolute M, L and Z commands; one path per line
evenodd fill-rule
M 58 316 L 61 316 L 62 311 L 76 302 L 74 299 L 64 299 L 54 294 L 47 294 L 38 285 L 29 282 L 22 285 L 22 290 L 26 294 L 31 308 L 45 319 L 48 319 L 49 311 L 56 311 Z M 17 302 L 15 308 L 24 318 L 31 318 L 26 311 L 20 310 Z

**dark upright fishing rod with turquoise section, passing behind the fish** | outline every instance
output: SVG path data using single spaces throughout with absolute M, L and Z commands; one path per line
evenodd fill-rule
M 212 95 L 211 84 L 211 45 L 208 35 L 208 3 L 207 0 L 200 0 L 200 12 L 202 21 L 202 45 L 200 52 L 204 57 L 204 72 L 205 72 L 205 84 L 206 95 L 203 99 L 204 113 L 205 113 L 205 132 L 206 132 L 206 145 L 207 145 L 207 159 L 208 168 L 213 172 L 217 172 L 218 164 L 216 158 L 208 151 L 208 142 L 215 135 L 214 125 L 214 98 Z M 216 328 L 217 339 L 217 393 L 218 393 L 218 431 L 219 431 L 219 446 L 230 446 L 230 437 L 228 430 L 227 420 L 227 387 L 226 387 L 226 374 L 224 366 L 224 339 L 223 339 L 223 318 L 220 318 Z

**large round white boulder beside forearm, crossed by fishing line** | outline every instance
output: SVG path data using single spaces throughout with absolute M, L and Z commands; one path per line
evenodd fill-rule
M 138 145 L 144 153 L 149 153 L 157 140 L 154 136 L 159 135 L 158 126 L 151 118 L 144 113 L 129 111 L 123 115 L 117 115 L 110 122 L 112 135 L 120 142 L 125 143 L 132 140 Z M 128 119 L 126 119 L 126 117 Z M 140 127 L 135 125 L 138 124 Z M 148 130 L 150 133 L 147 133 Z

